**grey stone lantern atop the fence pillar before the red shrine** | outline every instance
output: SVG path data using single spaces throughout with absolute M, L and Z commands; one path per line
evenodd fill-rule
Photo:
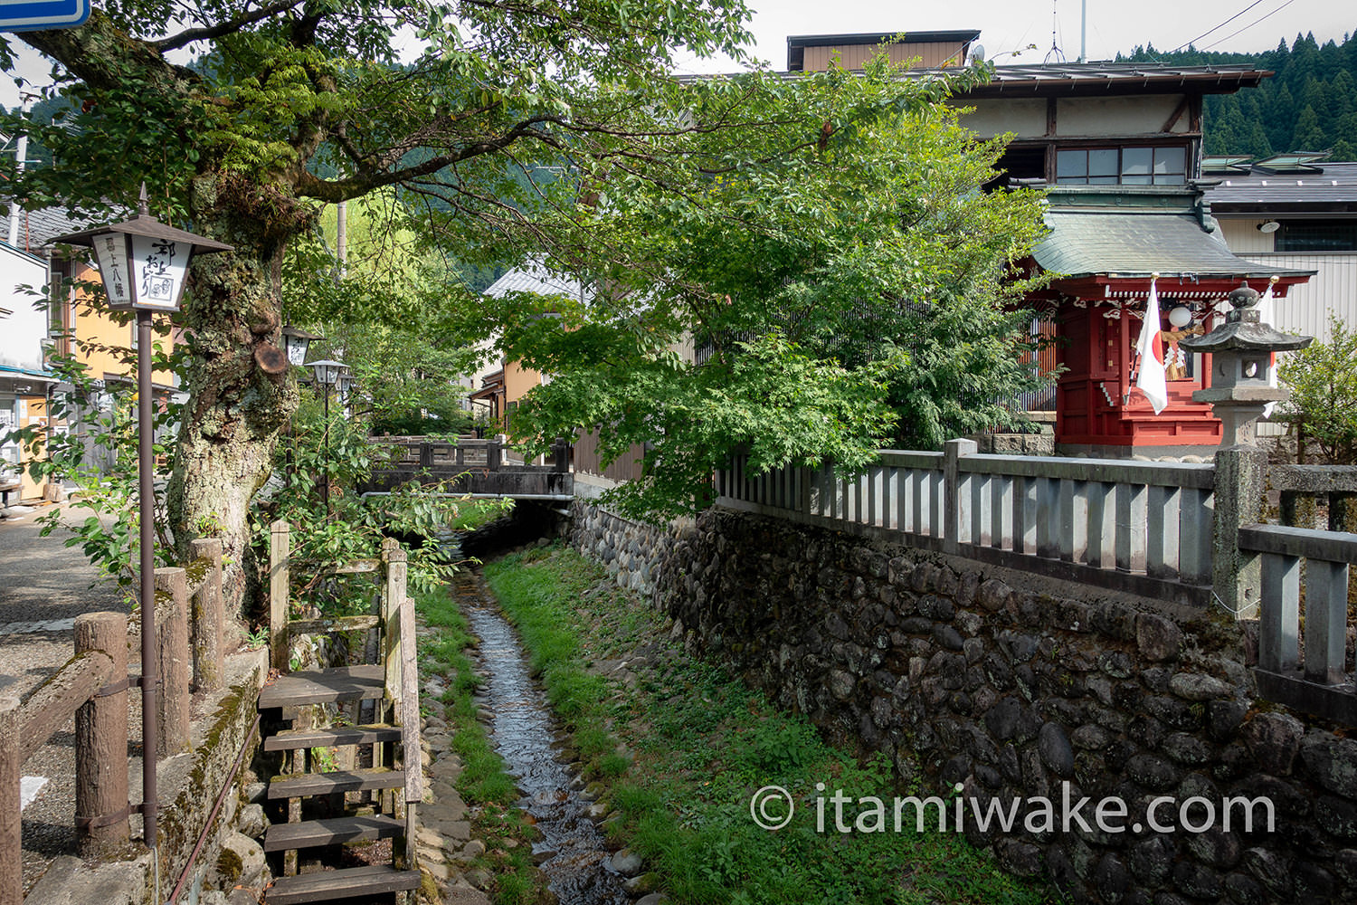
M 1193 402 L 1210 403 L 1212 414 L 1224 425 L 1223 449 L 1255 445 L 1258 419 L 1267 403 L 1281 402 L 1291 392 L 1273 384 L 1273 353 L 1304 349 L 1314 336 L 1293 336 L 1273 330 L 1258 316 L 1258 292 L 1240 286 L 1228 296 L 1234 307 L 1225 323 L 1205 336 L 1179 342 L 1191 351 L 1212 355 L 1210 385 L 1193 392 Z

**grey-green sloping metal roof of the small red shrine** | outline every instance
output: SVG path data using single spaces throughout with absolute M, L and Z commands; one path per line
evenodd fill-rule
M 1050 235 L 1034 256 L 1049 273 L 1067 277 L 1259 277 L 1292 273 L 1262 269 L 1225 247 L 1193 214 L 1090 212 L 1052 208 Z

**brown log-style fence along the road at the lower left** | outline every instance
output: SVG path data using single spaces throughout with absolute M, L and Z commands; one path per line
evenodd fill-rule
M 156 570 L 157 753 L 189 749 L 189 697 L 224 680 L 221 541 L 197 540 L 194 562 Z M 193 630 L 190 631 L 190 612 Z M 75 621 L 75 655 L 22 703 L 0 697 L 0 905 L 23 901 L 20 769 L 75 716 L 76 840 L 84 858 L 130 839 L 128 801 L 128 617 L 85 613 Z

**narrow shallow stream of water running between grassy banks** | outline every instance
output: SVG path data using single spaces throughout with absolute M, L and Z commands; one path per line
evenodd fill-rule
M 489 598 L 479 574 L 457 582 L 471 631 L 480 639 L 487 676 L 491 739 L 516 777 L 520 807 L 537 822 L 533 852 L 548 852 L 541 870 L 560 905 L 627 905 L 623 878 L 608 863 L 603 834 L 589 818 L 574 771 L 558 760 L 551 711 L 533 684 L 518 636 Z

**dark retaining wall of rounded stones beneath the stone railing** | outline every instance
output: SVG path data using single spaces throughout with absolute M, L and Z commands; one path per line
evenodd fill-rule
M 584 507 L 578 545 L 655 588 L 689 647 L 833 741 L 883 752 L 901 788 L 965 798 L 1115 796 L 1126 832 L 1071 822 L 966 833 L 1075 902 L 1352 902 L 1357 741 L 1254 699 L 1246 624 L 818 528 L 706 513 L 647 548 Z M 634 548 L 635 547 L 635 548 Z M 626 578 L 623 578 L 626 575 Z M 889 790 L 848 790 L 856 795 Z M 1136 832 L 1155 796 L 1266 796 L 1274 832 Z M 1197 806 L 1194 806 L 1197 807 Z M 1083 811 L 1091 818 L 1091 806 Z M 1190 811 L 1200 824 L 1204 810 Z M 1265 824 L 1263 811 L 1257 811 Z

